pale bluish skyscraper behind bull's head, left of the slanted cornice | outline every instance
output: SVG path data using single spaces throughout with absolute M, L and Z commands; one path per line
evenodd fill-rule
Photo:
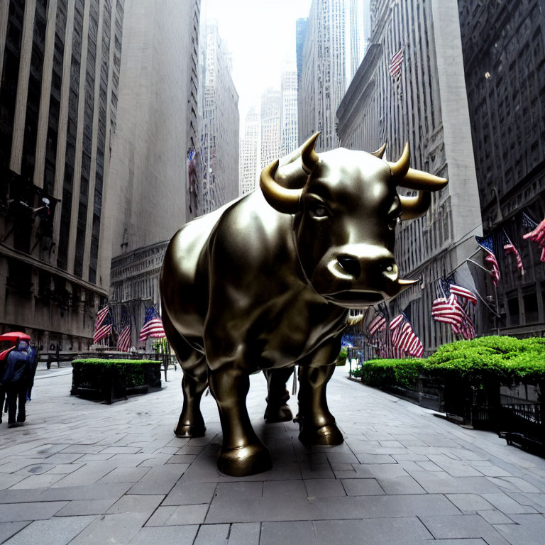
M 338 147 L 336 110 L 350 79 L 347 67 L 361 58 L 355 1 L 312 0 L 299 86 L 299 143 L 320 131 L 317 151 Z

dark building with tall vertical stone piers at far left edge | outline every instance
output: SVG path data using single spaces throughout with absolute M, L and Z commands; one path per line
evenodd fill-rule
M 83 351 L 109 290 L 123 0 L 0 3 L 0 331 Z

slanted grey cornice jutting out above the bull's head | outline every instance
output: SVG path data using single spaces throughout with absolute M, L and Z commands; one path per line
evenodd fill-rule
M 370 45 L 360 67 L 356 71 L 351 84 L 338 105 L 336 116 L 338 120 L 337 136 L 341 140 L 349 133 L 354 123 L 358 123 L 365 102 L 373 95 L 373 75 L 382 56 L 382 45 Z

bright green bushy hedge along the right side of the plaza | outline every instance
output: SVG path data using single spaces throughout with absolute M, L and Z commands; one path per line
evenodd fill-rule
M 419 375 L 444 384 L 475 387 L 545 385 L 545 338 L 489 336 L 441 346 L 429 358 L 370 360 L 356 376 L 374 387 L 416 385 Z M 541 387 L 541 392 L 544 389 Z

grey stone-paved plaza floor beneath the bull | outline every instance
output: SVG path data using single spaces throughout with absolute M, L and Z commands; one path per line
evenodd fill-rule
M 0 542 L 9 545 L 533 545 L 545 536 L 545 460 L 484 431 L 348 380 L 329 406 L 346 437 L 305 448 L 296 424 L 265 424 L 265 379 L 248 408 L 272 470 L 216 470 L 207 436 L 177 439 L 182 373 L 106 405 L 70 396 L 70 368 L 39 369 L 27 423 L 0 426 Z M 291 400 L 292 409 L 297 404 Z

